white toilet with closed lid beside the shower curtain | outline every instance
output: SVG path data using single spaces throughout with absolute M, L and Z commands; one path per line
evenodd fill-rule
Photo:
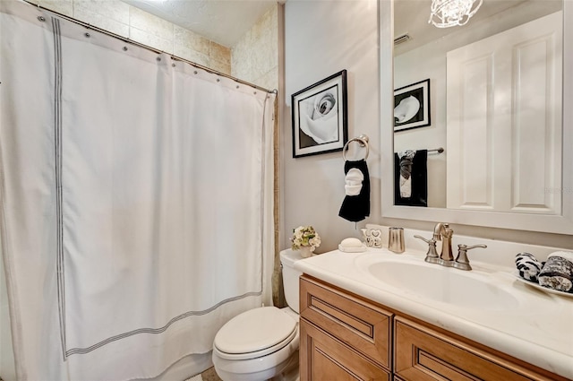
M 288 307 L 259 307 L 223 325 L 213 342 L 213 365 L 224 381 L 298 379 L 298 251 L 280 252 Z

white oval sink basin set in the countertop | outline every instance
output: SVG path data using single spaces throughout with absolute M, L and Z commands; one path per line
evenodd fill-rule
M 457 307 L 504 310 L 519 305 L 509 290 L 487 275 L 447 268 L 438 264 L 383 261 L 367 267 L 377 281 L 423 299 Z

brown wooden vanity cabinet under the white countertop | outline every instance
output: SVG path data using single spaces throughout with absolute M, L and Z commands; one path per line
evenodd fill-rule
M 301 381 L 568 380 L 306 274 L 300 285 Z

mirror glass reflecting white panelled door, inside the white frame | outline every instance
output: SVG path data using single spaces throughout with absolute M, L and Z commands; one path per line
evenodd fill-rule
M 395 104 L 394 204 L 561 215 L 562 1 L 484 1 L 445 29 L 430 7 L 394 2 L 394 89 L 429 79 Z M 404 127 L 414 106 L 429 126 Z

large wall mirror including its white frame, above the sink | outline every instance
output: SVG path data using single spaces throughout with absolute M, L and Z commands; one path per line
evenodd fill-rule
M 573 234 L 573 4 L 379 4 L 382 216 Z

